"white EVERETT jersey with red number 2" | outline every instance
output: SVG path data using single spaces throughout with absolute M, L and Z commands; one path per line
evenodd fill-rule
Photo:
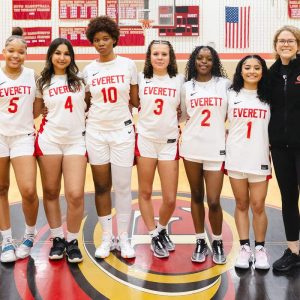
M 213 77 L 183 85 L 182 110 L 188 115 L 183 128 L 180 156 L 210 161 L 225 160 L 225 119 L 230 81 Z

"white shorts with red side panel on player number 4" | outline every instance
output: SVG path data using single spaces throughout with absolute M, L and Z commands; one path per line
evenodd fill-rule
M 86 155 L 84 136 L 74 144 L 58 144 L 49 141 L 43 134 L 35 140 L 35 156 L 43 155 Z

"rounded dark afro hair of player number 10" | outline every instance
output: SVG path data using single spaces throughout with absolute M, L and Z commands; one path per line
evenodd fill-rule
M 108 33 L 115 40 L 113 47 L 118 45 L 120 29 L 112 18 L 108 16 L 99 16 L 90 20 L 86 29 L 86 37 L 91 44 L 93 44 L 95 34 L 101 31 Z

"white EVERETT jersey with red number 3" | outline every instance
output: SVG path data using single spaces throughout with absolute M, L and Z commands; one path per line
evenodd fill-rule
M 183 82 L 182 75 L 172 78 L 168 74 L 153 75 L 149 79 L 144 78 L 144 73 L 139 73 L 139 134 L 161 142 L 178 139 L 177 107 Z

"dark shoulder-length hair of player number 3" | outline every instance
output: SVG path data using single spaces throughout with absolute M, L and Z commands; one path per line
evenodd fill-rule
M 144 76 L 145 78 L 152 78 L 153 77 L 153 66 L 151 64 L 151 47 L 153 44 L 162 44 L 169 46 L 169 55 L 170 55 L 170 62 L 167 67 L 167 72 L 170 77 L 175 77 L 178 73 L 177 63 L 176 63 L 176 56 L 173 49 L 172 44 L 169 41 L 165 40 L 153 40 L 147 49 L 146 59 L 145 59 L 145 66 L 144 66 Z

